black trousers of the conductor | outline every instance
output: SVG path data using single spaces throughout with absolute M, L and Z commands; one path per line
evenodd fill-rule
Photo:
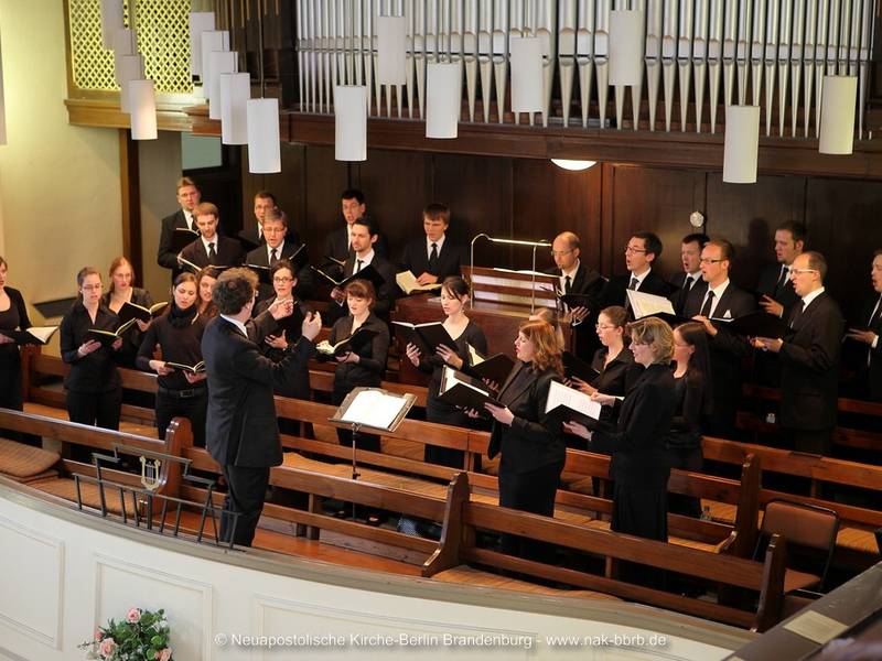
M 250 546 L 267 497 L 269 467 L 249 468 L 226 464 L 223 472 L 227 480 L 227 495 L 220 513 L 220 541 L 229 542 L 232 539 L 234 544 Z

